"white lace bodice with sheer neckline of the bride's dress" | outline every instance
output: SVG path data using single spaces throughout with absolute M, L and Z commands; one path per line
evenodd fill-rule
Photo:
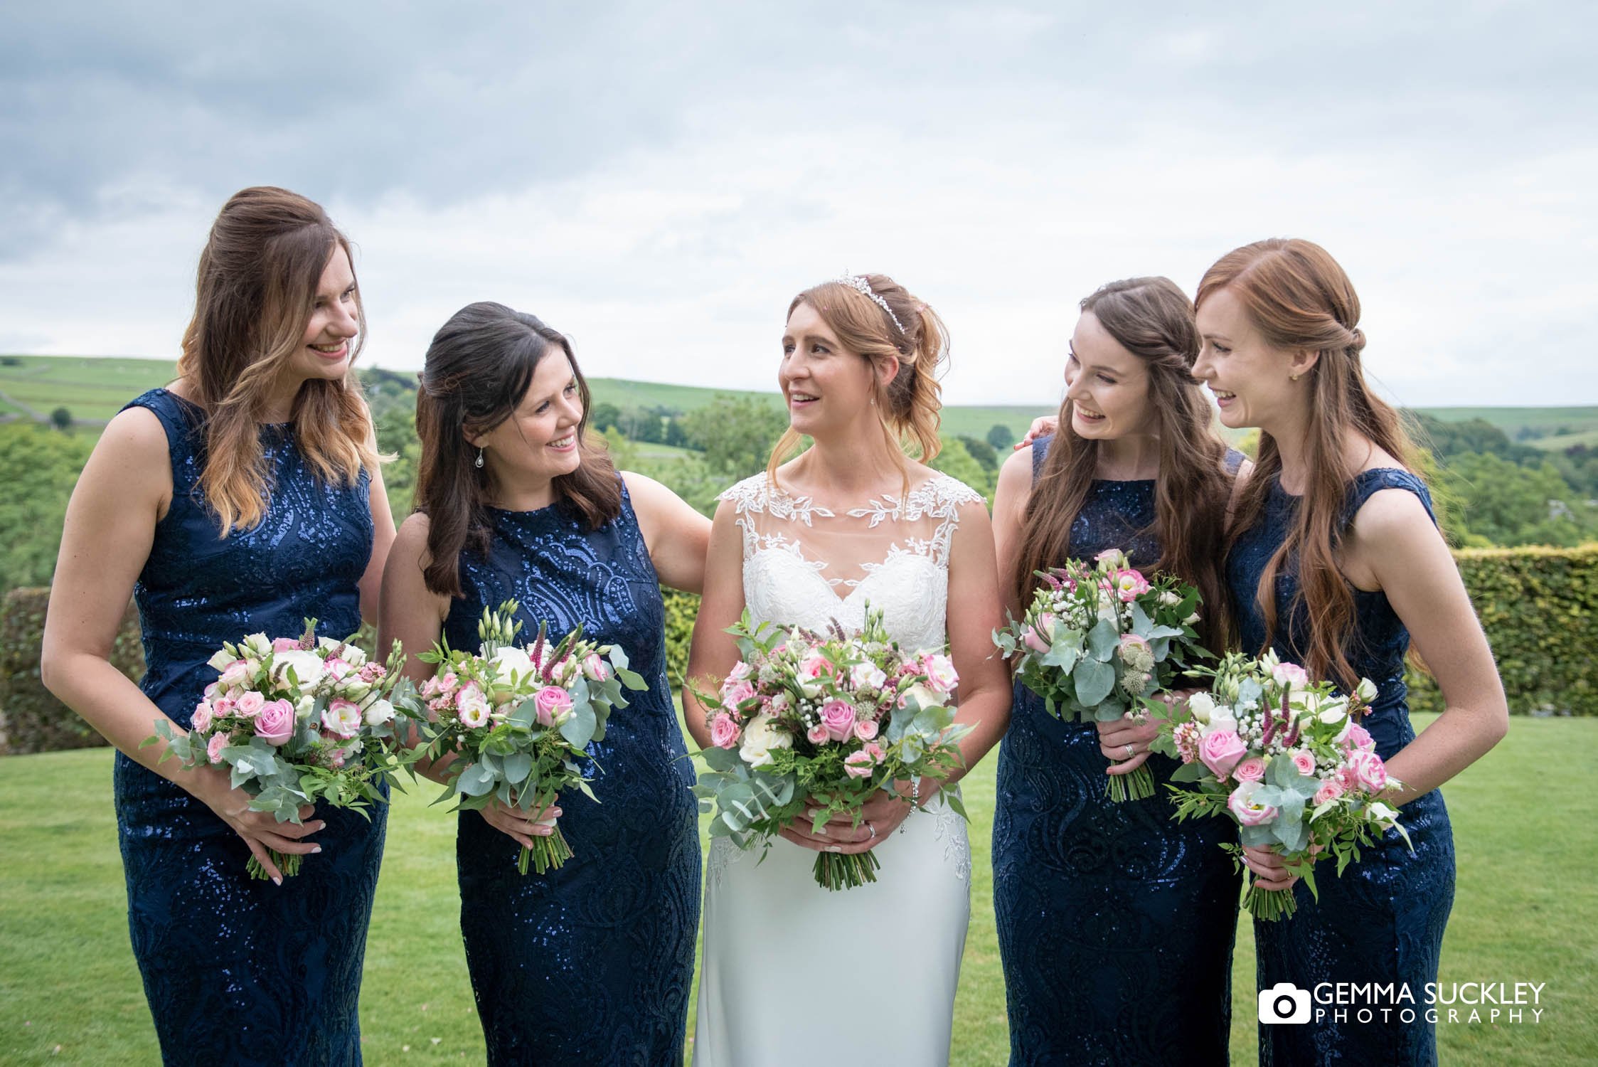
M 933 474 L 903 500 L 885 494 L 837 514 L 772 487 L 765 474 L 721 494 L 743 530 L 743 597 L 756 621 L 845 629 L 880 609 L 906 649 L 946 642 L 949 546 L 960 510 L 983 497 Z

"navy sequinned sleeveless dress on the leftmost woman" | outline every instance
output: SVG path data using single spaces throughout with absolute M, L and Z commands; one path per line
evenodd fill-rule
M 147 663 L 139 688 L 187 727 L 224 641 L 297 636 L 305 618 L 321 636 L 360 629 L 368 476 L 326 484 L 292 423 L 262 426 L 265 518 L 222 538 L 198 487 L 201 409 L 166 390 L 128 407 L 155 412 L 173 457 L 173 503 L 133 589 Z M 211 808 L 120 752 L 115 797 L 128 928 L 165 1062 L 360 1064 L 356 997 L 387 805 L 369 808 L 371 821 L 318 807 L 323 851 L 278 887 L 248 877 L 249 848 Z

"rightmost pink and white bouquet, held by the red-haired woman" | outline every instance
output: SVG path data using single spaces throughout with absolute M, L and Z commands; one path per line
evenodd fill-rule
M 1170 786 L 1178 819 L 1230 815 L 1242 845 L 1226 848 L 1238 863 L 1243 845 L 1275 845 L 1317 898 L 1314 866 L 1322 856 L 1336 856 L 1341 875 L 1360 847 L 1387 829 L 1409 842 L 1398 813 L 1377 799 L 1401 783 L 1387 776 L 1360 725 L 1376 698 L 1369 679 L 1346 696 L 1274 652 L 1258 660 L 1234 652 L 1192 674 L 1213 679 L 1213 695 L 1195 693 L 1176 708 L 1152 746 L 1183 760 Z M 1290 890 L 1253 883 L 1243 904 L 1267 922 L 1294 910 Z

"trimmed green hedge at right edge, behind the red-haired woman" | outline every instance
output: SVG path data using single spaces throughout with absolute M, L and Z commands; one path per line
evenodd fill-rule
M 1598 716 L 1598 545 L 1454 553 L 1497 658 L 1512 714 Z M 1437 682 L 1409 671 L 1409 706 L 1441 711 Z

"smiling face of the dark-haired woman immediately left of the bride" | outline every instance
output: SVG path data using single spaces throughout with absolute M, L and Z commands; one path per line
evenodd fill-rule
M 502 484 L 559 478 L 577 470 L 577 423 L 583 401 L 577 374 L 559 347 L 551 347 L 532 371 L 532 382 L 510 418 L 492 430 L 468 434 L 483 449 L 483 460 Z

